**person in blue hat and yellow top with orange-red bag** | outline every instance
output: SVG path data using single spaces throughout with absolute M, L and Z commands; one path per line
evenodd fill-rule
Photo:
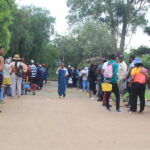
M 132 92 L 132 102 L 131 102 L 131 113 L 137 111 L 137 98 L 140 98 L 140 110 L 142 113 L 145 108 L 145 85 L 148 79 L 147 69 L 143 67 L 142 60 L 140 58 L 135 58 L 134 68 L 131 71 L 131 92 Z

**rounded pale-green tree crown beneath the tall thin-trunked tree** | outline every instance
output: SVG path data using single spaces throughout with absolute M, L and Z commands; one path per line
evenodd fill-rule
M 114 51 L 115 43 L 108 29 L 98 22 L 87 21 L 75 30 L 85 58 L 106 56 Z

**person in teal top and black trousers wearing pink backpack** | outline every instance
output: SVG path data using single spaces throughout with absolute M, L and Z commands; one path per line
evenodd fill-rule
M 110 110 L 109 99 L 111 93 L 113 92 L 116 97 L 116 112 L 120 112 L 120 93 L 118 88 L 118 69 L 119 64 L 116 62 L 116 56 L 112 54 L 109 58 L 108 65 L 104 69 L 104 78 L 105 82 L 108 82 L 112 85 L 112 91 L 106 92 L 106 108 Z

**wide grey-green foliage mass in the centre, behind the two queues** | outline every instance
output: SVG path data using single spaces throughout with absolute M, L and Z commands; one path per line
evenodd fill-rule
M 87 58 L 106 56 L 114 51 L 114 41 L 108 29 L 98 22 L 87 21 L 69 36 L 57 36 L 55 44 L 59 58 L 66 65 L 82 65 Z

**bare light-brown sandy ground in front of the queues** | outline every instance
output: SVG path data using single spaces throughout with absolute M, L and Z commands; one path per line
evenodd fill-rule
M 150 107 L 142 115 L 108 112 L 77 89 L 59 99 L 50 82 L 0 109 L 0 150 L 150 150 Z

